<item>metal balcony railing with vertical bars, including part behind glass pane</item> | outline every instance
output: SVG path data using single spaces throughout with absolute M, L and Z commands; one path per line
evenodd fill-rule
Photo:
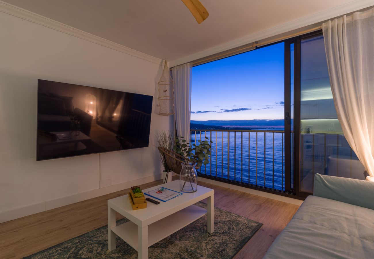
M 191 143 L 212 140 L 210 163 L 200 174 L 285 191 L 285 132 L 282 130 L 192 129 Z M 291 132 L 291 188 L 293 187 Z M 343 134 L 300 135 L 300 190 L 313 192 L 315 173 L 365 179 L 364 168 Z

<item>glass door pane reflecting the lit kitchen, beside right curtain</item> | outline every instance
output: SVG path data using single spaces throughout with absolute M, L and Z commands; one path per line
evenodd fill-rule
M 344 138 L 332 99 L 322 34 L 300 43 L 300 191 L 316 173 L 364 180 L 364 167 Z

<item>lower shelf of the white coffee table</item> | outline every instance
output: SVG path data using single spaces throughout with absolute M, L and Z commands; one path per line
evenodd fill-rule
M 191 205 L 148 226 L 148 247 L 204 216 L 207 210 Z M 138 226 L 129 221 L 111 228 L 132 248 L 138 250 Z

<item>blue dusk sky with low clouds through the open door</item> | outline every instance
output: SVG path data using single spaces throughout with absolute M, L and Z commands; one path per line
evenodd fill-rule
M 284 43 L 193 67 L 191 120 L 282 119 Z

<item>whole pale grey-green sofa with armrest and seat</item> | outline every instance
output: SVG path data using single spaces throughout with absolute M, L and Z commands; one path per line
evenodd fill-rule
M 374 182 L 316 174 L 264 258 L 374 258 Z

